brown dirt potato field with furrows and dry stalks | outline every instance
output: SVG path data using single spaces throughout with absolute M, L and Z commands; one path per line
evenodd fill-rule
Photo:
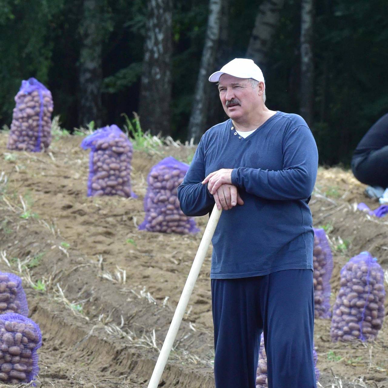
M 30 316 L 42 329 L 37 385 L 146 387 L 207 218 L 196 219 L 196 235 L 137 230 L 145 179 L 160 159 L 187 161 L 194 148 L 135 151 L 137 199 L 87 197 L 82 137 L 57 136 L 50 152 L 39 154 L 8 152 L 7 137 L 0 133 L 0 271 L 23 277 Z M 332 305 L 350 257 L 367 250 L 388 268 L 388 216 L 355 210 L 361 201 L 378 206 L 364 189 L 347 171 L 319 170 L 310 207 L 334 255 Z M 210 256 L 209 250 L 160 386 L 214 387 Z M 365 344 L 332 343 L 329 331 L 330 320 L 315 320 L 322 386 L 388 387 L 386 322 Z

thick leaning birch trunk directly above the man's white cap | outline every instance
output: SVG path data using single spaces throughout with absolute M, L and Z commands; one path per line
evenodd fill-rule
M 262 69 L 264 75 L 272 36 L 279 24 L 280 10 L 283 8 L 283 5 L 284 0 L 264 0 L 262 2 L 246 51 L 246 57 L 253 59 Z

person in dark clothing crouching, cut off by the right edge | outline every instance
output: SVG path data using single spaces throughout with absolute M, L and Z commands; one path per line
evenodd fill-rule
M 380 197 L 388 187 L 388 113 L 379 118 L 353 153 L 352 171 L 362 183 L 372 186 L 366 193 Z

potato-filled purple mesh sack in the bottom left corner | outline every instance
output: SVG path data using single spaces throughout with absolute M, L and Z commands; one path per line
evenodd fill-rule
M 20 314 L 0 315 L 0 382 L 29 383 L 38 374 L 39 326 Z

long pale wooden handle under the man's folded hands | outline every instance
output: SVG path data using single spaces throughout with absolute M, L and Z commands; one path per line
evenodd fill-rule
M 206 225 L 206 229 L 203 234 L 201 243 L 199 244 L 197 254 L 192 263 L 189 276 L 187 277 L 186 284 L 183 288 L 182 295 L 180 296 L 177 309 L 175 310 L 173 319 L 171 321 L 170 328 L 168 329 L 165 342 L 163 343 L 162 350 L 160 351 L 158 361 L 156 361 L 154 371 L 152 372 L 148 388 L 158 387 L 160 378 L 162 377 L 163 371 L 167 363 L 168 356 L 170 355 L 175 337 L 177 336 L 180 323 L 182 322 L 187 304 L 189 303 L 190 296 L 194 289 L 194 284 L 197 281 L 197 277 L 199 271 L 201 270 L 206 252 L 209 248 L 211 238 L 213 237 L 218 220 L 220 219 L 221 212 L 222 210 L 218 210 L 217 205 L 214 205 L 208 224 Z

